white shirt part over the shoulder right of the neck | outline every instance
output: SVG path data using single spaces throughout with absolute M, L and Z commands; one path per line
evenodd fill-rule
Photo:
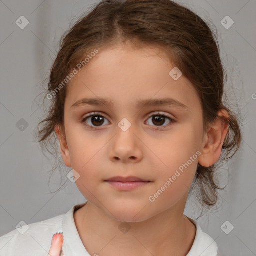
M 199 223 L 189 218 L 196 225 L 196 235 L 194 243 L 187 256 L 217 256 L 218 245 L 214 239 L 202 231 Z

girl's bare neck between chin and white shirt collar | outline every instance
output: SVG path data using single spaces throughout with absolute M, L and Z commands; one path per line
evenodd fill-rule
M 181 204 L 183 205 L 183 204 Z M 75 211 L 82 243 L 90 255 L 186 255 L 196 227 L 175 207 L 141 222 L 122 222 L 89 201 Z

